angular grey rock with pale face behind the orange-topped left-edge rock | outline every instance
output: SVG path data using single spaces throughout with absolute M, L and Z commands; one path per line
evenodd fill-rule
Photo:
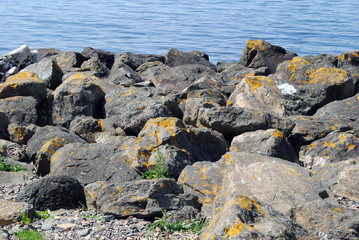
M 31 64 L 21 71 L 34 73 L 45 81 L 47 88 L 51 90 L 55 90 L 62 83 L 64 75 L 57 63 L 51 59 L 44 59 L 38 63 Z

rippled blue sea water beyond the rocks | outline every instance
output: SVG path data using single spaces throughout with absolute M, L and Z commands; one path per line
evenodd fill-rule
M 359 49 L 358 0 L 1 0 L 0 55 L 26 43 L 81 52 L 200 50 L 238 61 L 248 39 L 299 55 Z

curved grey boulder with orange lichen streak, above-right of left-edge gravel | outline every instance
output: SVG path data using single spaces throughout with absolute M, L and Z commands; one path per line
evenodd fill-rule
M 85 143 L 86 141 L 64 128 L 46 126 L 37 128 L 28 141 L 26 153 L 34 160 L 36 173 L 44 176 L 50 172 L 50 158 L 57 149 L 68 143 Z

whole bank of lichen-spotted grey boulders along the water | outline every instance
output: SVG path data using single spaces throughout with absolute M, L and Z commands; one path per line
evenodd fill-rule
M 336 201 L 359 201 L 358 51 L 299 57 L 248 40 L 239 62 L 213 65 L 199 51 L 23 46 L 0 74 L 1 155 L 46 176 L 2 200 L 1 225 L 82 204 L 206 217 L 201 239 L 358 237 L 358 209 Z M 173 179 L 141 178 L 157 150 Z

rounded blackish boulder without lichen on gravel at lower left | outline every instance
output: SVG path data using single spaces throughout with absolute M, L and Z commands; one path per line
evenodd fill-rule
M 84 189 L 71 176 L 46 176 L 26 185 L 16 197 L 17 202 L 27 202 L 36 210 L 73 209 L 85 204 Z

